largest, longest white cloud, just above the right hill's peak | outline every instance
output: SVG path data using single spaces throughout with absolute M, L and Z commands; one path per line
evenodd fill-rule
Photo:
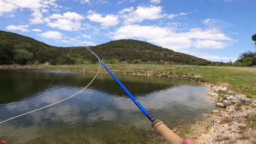
M 178 33 L 170 27 L 128 25 L 118 28 L 111 33 L 113 39 L 134 38 L 157 44 L 172 50 L 188 49 L 189 47 L 221 49 L 227 46 L 226 41 L 233 39 L 222 34 L 217 29 L 190 29 Z M 210 43 L 209 45 L 206 45 Z

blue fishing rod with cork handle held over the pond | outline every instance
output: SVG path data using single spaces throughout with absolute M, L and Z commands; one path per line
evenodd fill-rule
M 83 44 L 83 43 L 82 43 Z M 161 134 L 165 140 L 171 144 L 182 144 L 183 139 L 179 137 L 179 135 L 175 134 L 172 130 L 169 129 L 160 119 L 155 119 L 153 116 L 149 114 L 149 112 L 133 97 L 133 95 L 126 89 L 126 87 L 119 81 L 119 79 L 111 72 L 111 70 L 105 65 L 105 63 L 95 54 L 89 46 L 83 44 L 87 50 L 89 50 L 95 57 L 98 58 L 101 65 L 105 67 L 108 73 L 115 79 L 115 81 L 122 87 L 125 93 L 129 96 L 129 98 L 135 103 L 135 105 L 142 111 L 144 115 L 152 122 L 151 126 Z

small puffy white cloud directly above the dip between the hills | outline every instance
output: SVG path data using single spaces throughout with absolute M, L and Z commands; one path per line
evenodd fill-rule
M 119 23 L 118 16 L 114 14 L 108 14 L 106 17 L 102 17 L 101 14 L 89 14 L 86 17 L 90 21 L 98 22 L 101 26 L 116 26 Z

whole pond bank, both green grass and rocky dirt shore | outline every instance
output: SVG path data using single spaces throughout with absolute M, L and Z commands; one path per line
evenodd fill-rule
M 98 69 L 98 66 L 12 65 L 0 66 L 0 69 L 60 69 L 93 72 Z M 222 108 L 211 111 L 205 116 L 204 121 L 192 125 L 186 137 L 198 143 L 255 143 L 256 106 L 253 104 L 254 101 L 246 102 L 245 98 L 255 99 L 256 68 L 127 64 L 108 66 L 113 73 L 182 78 L 210 87 L 212 92 L 209 93 L 209 97 Z M 102 68 L 101 73 L 107 73 L 107 71 Z

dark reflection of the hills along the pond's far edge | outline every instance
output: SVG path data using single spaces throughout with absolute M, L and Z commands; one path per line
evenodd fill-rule
M 48 73 L 47 73 L 48 72 Z M 34 94 L 45 91 L 50 83 L 50 79 L 57 71 L 47 70 L 1 70 L 1 87 L 3 97 L 0 97 L 1 103 L 9 103 L 27 97 L 33 97 Z M 84 87 L 94 77 L 94 73 L 70 73 L 60 71 L 55 77 L 52 86 L 73 86 Z M 163 90 L 167 86 L 181 84 L 179 81 L 169 81 L 166 78 L 139 77 L 117 75 L 125 84 L 127 89 L 134 95 L 142 95 L 151 91 Z M 182 82 L 186 83 L 186 82 Z M 125 95 L 119 85 L 113 81 L 109 74 L 100 74 L 90 85 L 91 88 L 100 89 L 109 94 Z

